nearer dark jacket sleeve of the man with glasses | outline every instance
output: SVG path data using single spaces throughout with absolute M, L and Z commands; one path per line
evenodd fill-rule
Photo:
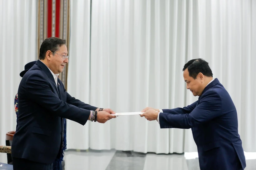
M 47 80 L 39 73 L 33 73 L 26 80 L 27 98 L 48 109 L 57 116 L 85 125 L 90 111 L 63 102 L 52 92 Z

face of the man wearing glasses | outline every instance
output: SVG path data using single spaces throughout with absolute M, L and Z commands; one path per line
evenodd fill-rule
M 67 55 L 67 47 L 66 45 L 62 45 L 58 48 L 57 51 L 51 52 L 47 51 L 47 59 L 49 61 L 49 68 L 52 70 L 54 74 L 59 74 L 63 71 L 63 68 L 68 63 L 68 58 L 63 60 L 62 56 Z

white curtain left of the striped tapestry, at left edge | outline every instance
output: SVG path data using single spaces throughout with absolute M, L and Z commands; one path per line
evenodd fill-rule
M 0 145 L 16 130 L 14 97 L 25 64 L 37 59 L 37 1 L 0 0 Z

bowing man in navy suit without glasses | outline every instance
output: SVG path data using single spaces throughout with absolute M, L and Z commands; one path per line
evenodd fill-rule
M 160 128 L 191 128 L 202 170 L 242 170 L 246 167 L 238 134 L 234 103 L 208 62 L 192 59 L 184 65 L 183 77 L 198 100 L 184 108 L 145 108 L 141 117 L 157 120 Z

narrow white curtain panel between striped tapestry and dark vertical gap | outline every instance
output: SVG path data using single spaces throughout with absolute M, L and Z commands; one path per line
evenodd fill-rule
M 67 92 L 85 103 L 90 101 L 91 0 L 70 1 L 70 45 Z M 85 127 L 67 120 L 67 147 L 88 149 L 89 123 Z

